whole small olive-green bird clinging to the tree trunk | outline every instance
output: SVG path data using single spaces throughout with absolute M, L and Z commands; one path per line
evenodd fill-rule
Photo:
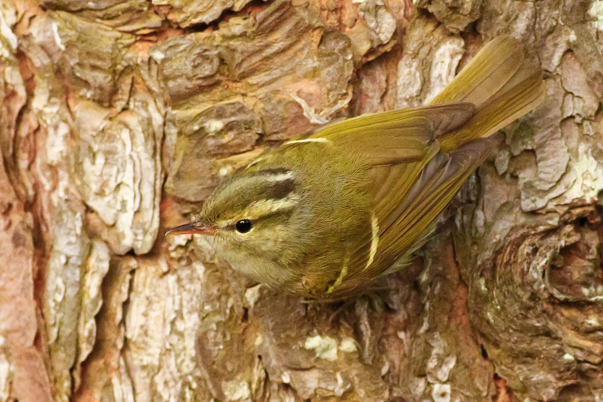
M 487 43 L 424 107 L 355 117 L 286 141 L 227 179 L 191 223 L 251 279 L 332 301 L 404 266 L 493 133 L 543 98 L 510 37 Z

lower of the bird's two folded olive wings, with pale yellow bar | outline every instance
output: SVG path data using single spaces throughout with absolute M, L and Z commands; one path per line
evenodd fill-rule
M 437 152 L 418 174 L 415 174 L 413 164 L 391 167 L 386 185 L 373 197 L 371 228 L 364 230 L 358 248 L 350 258 L 350 267 L 356 267 L 356 270 L 349 279 L 379 276 L 420 247 L 427 238 L 426 232 L 434 229 L 435 218 L 499 141 L 499 136 L 478 138 L 453 152 Z M 412 172 L 408 172 L 410 165 L 414 168 Z M 412 179 L 399 176 L 407 172 L 411 173 Z M 397 185 L 387 185 L 390 182 Z M 400 185 L 400 182 L 405 184 Z M 391 193 L 388 188 L 393 189 Z M 402 191 L 397 192 L 398 188 Z

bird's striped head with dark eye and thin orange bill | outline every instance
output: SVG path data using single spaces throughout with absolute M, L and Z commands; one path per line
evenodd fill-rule
M 235 270 L 268 285 L 295 277 L 311 229 L 300 178 L 287 169 L 235 174 L 219 185 L 189 223 L 167 234 L 209 236 Z

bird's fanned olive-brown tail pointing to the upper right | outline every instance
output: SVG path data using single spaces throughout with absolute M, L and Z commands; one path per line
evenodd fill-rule
M 537 107 L 544 95 L 541 71 L 526 61 L 522 44 L 508 36 L 491 40 L 430 102 L 470 102 L 476 107 L 467 123 L 438 138 L 441 149 L 450 152 L 488 137 Z

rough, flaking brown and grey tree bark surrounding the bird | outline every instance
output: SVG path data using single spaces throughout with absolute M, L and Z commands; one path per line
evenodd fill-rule
M 267 146 L 499 34 L 548 96 L 376 297 L 164 238 Z M 3 0 L 0 402 L 603 401 L 603 1 Z

